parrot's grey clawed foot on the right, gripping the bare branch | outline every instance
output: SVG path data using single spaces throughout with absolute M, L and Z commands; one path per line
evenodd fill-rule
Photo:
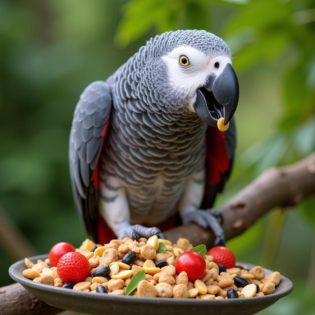
M 220 222 L 219 222 L 219 221 Z M 210 228 L 215 234 L 215 246 L 225 246 L 225 235 L 221 227 L 223 224 L 223 215 L 215 209 L 195 209 L 185 214 L 184 224 L 197 223 L 203 228 Z

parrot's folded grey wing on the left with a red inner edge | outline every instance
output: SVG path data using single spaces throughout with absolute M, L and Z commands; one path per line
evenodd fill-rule
M 69 168 L 74 202 L 87 232 L 96 239 L 98 161 L 105 140 L 112 94 L 95 81 L 85 88 L 74 111 L 69 139 Z

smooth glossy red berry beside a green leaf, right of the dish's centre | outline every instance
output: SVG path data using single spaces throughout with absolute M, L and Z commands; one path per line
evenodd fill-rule
M 191 282 L 200 279 L 206 272 L 206 267 L 203 257 L 193 251 L 181 253 L 175 261 L 176 273 L 186 271 L 188 280 Z

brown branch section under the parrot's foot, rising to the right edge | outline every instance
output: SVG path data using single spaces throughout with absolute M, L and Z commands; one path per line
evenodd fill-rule
M 266 170 L 243 188 L 220 211 L 226 239 L 242 234 L 274 207 L 294 206 L 315 193 L 315 153 L 286 167 Z M 164 233 L 172 242 L 187 237 L 193 245 L 211 247 L 215 236 L 196 224 L 178 226 Z

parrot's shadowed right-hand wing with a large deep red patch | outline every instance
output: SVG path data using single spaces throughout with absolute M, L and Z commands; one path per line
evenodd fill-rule
M 231 175 L 236 147 L 234 117 L 230 121 L 229 129 L 225 132 L 209 126 L 207 144 L 206 185 L 202 209 L 213 206 L 216 194 L 223 191 L 225 183 Z

